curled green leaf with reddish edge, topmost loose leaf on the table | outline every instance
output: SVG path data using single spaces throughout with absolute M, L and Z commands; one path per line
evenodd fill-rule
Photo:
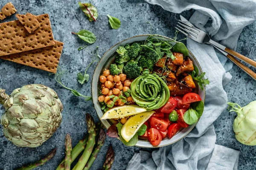
M 78 2 L 79 7 L 84 12 L 89 21 L 96 21 L 98 17 L 98 11 L 91 3 L 81 3 Z

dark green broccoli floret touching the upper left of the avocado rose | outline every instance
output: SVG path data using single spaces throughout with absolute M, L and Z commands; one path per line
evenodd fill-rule
M 142 68 L 139 65 L 137 65 L 136 61 L 131 60 L 127 62 L 127 64 L 124 66 L 123 71 L 126 74 L 127 78 L 135 79 L 136 77 L 140 76 L 140 72 L 142 71 Z

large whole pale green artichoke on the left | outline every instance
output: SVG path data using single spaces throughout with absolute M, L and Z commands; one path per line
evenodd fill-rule
M 0 88 L 3 134 L 19 147 L 38 147 L 61 124 L 63 105 L 55 91 L 40 85 L 24 85 L 10 96 Z

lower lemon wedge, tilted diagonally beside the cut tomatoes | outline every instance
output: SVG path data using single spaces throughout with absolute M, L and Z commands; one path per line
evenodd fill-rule
M 123 139 L 125 139 L 126 142 L 129 142 L 129 140 L 140 129 L 141 125 L 143 125 L 143 123 L 146 122 L 153 113 L 154 111 L 145 111 L 131 116 L 122 127 L 121 135 Z

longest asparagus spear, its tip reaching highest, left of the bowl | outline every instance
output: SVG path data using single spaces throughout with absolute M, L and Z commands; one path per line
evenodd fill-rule
M 80 157 L 79 161 L 77 162 L 73 170 L 82 170 L 84 168 L 88 159 L 90 158 L 90 155 L 93 151 L 93 147 L 95 145 L 95 136 L 96 136 L 95 123 L 94 123 L 93 117 L 89 113 L 87 113 L 86 122 L 88 126 L 89 138 L 86 143 L 84 153 Z

